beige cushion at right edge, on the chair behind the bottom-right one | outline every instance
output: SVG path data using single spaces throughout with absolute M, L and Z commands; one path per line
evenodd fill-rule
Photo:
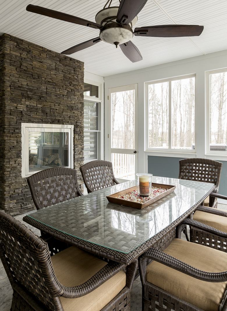
M 217 209 L 215 208 L 215 210 Z M 217 230 L 227 232 L 227 217 L 202 211 L 195 211 L 193 214 L 193 219 L 202 222 L 202 224 L 211 226 Z

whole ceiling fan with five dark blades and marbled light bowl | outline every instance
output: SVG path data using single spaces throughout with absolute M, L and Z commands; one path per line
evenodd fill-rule
M 99 37 L 77 44 L 61 52 L 61 54 L 69 55 L 104 41 L 114 44 L 116 47 L 119 45 L 125 56 L 133 63 L 142 60 L 140 51 L 130 41 L 133 35 L 144 37 L 191 37 L 199 36 L 203 31 L 203 26 L 175 24 L 138 27 L 133 31 L 132 27 L 137 22 L 137 14 L 145 6 L 147 0 L 121 0 L 119 7 L 110 7 L 111 2 L 112 0 L 108 0 L 104 8 L 96 14 L 96 23 L 32 4 L 29 4 L 26 10 L 100 30 Z

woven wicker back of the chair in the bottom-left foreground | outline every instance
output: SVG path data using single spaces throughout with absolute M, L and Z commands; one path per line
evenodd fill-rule
M 31 305 L 37 304 L 38 299 L 38 303 L 42 302 L 40 310 L 63 310 L 60 299 L 51 294 L 57 278 L 47 243 L 2 211 L 0 257 L 12 288 Z

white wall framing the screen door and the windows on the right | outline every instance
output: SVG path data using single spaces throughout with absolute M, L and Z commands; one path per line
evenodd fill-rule
M 108 89 L 117 86 L 138 84 L 138 137 L 139 148 L 139 171 L 147 171 L 147 156 L 168 156 L 168 157 L 201 157 L 214 160 L 227 160 L 226 156 L 206 155 L 206 71 L 227 67 L 227 50 L 216 53 L 187 58 L 180 61 L 157 65 L 136 71 L 124 72 L 118 75 L 104 77 L 104 102 L 105 118 L 109 115 Z M 155 81 L 170 77 L 179 77 L 196 74 L 196 153 L 175 153 L 146 151 L 145 140 L 145 82 Z M 109 122 L 109 120 L 108 120 Z M 105 127 L 105 159 L 108 160 L 108 127 Z

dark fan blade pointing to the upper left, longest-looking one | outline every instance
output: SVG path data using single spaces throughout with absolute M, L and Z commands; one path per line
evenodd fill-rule
M 98 29 L 102 28 L 101 25 L 93 23 L 92 21 L 87 21 L 87 20 L 80 18 L 80 17 L 76 17 L 73 15 L 69 15 L 66 13 L 58 12 L 58 11 L 53 11 L 50 9 L 46 9 L 45 7 L 39 7 L 37 5 L 29 4 L 26 7 L 26 10 L 29 12 L 37 13 L 37 14 L 44 15 L 44 16 L 53 17 L 53 18 L 56 18 L 56 19 L 59 19 L 62 21 L 68 21 L 70 23 L 74 23 L 74 24 L 78 24 L 78 25 L 83 25 L 83 26 L 98 28 Z

